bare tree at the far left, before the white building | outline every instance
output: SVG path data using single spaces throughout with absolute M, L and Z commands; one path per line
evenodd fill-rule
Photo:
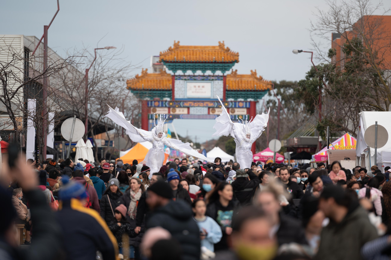
M 27 120 L 34 122 L 36 128 L 36 138 L 38 148 L 43 148 L 42 118 L 48 117 L 49 113 L 54 113 L 54 118 L 48 119 L 47 124 L 55 121 L 59 117 L 58 111 L 62 109 L 58 102 L 59 89 L 66 82 L 59 82 L 58 75 L 74 67 L 77 63 L 75 56 L 68 56 L 62 59 L 54 52 L 49 52 L 48 67 L 43 71 L 43 55 L 29 57 L 27 50 L 16 49 L 12 44 L 4 39 L 0 44 L 0 104 L 2 110 L 7 112 L 5 120 L 2 120 L 2 129 L 13 129 L 14 136 L 25 133 Z M 43 79 L 48 78 L 47 100 L 42 100 Z M 36 110 L 29 111 L 27 99 L 36 100 Z M 45 111 L 45 112 L 44 112 Z M 40 159 L 43 159 L 40 154 Z

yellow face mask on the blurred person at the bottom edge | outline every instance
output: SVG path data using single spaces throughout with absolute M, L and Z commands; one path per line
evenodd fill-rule
M 240 243 L 236 253 L 242 260 L 270 260 L 276 256 L 277 246 L 248 246 Z

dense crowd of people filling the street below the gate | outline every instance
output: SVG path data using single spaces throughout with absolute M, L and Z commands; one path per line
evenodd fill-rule
M 314 166 L 314 165 L 313 165 Z M 0 259 L 389 259 L 390 167 L 2 163 Z M 26 230 L 19 246 L 17 224 Z

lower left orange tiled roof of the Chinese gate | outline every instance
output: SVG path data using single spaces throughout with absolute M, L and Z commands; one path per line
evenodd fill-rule
M 148 69 L 142 69 L 133 79 L 126 81 L 127 89 L 131 90 L 171 90 L 172 75 L 165 70 L 160 73 L 148 73 Z

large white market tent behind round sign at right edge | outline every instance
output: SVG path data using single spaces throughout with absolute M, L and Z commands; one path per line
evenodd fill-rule
M 377 149 L 377 165 L 379 169 L 391 166 L 391 121 L 389 118 L 391 118 L 391 111 L 362 111 L 360 113 L 360 128 L 357 133 L 356 155 L 358 158 L 363 158 L 365 160 L 367 169 L 370 169 L 372 165 L 375 165 L 375 149 L 369 148 L 368 151 L 368 145 L 364 140 L 364 134 L 366 129 L 369 126 L 374 125 L 376 121 L 378 125 L 384 126 L 388 131 L 388 141 L 386 145 Z M 380 136 L 378 136 L 378 138 L 380 138 Z M 361 162 L 361 165 L 364 165 L 364 163 Z

